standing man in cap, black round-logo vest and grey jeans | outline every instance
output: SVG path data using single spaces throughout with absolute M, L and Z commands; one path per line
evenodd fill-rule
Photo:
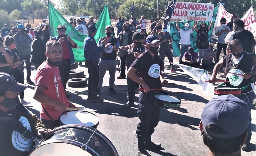
M 109 73 L 109 89 L 108 92 L 115 94 L 116 90 L 114 89 L 115 86 L 115 74 L 116 74 L 116 53 L 120 46 L 117 39 L 112 37 L 113 29 L 111 25 L 107 25 L 105 28 L 106 36 L 99 39 L 98 46 L 101 45 L 101 40 L 107 38 L 108 44 L 105 46 L 102 53 L 100 53 L 100 76 L 99 76 L 99 84 L 97 93 L 100 93 L 100 89 L 102 87 L 103 77 L 108 69 Z

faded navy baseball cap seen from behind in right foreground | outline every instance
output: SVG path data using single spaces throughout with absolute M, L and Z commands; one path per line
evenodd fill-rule
M 204 107 L 201 115 L 204 130 L 212 137 L 234 138 L 247 130 L 249 123 L 249 106 L 234 95 L 213 97 Z M 206 129 L 205 126 L 217 125 L 227 133 Z

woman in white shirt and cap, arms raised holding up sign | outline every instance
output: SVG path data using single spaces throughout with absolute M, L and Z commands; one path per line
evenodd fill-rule
M 188 47 L 191 46 L 190 34 L 193 33 L 196 22 L 191 29 L 189 29 L 189 24 L 184 25 L 184 30 L 179 27 L 179 19 L 177 19 L 176 28 L 180 32 L 180 62 L 182 61 L 183 55 L 188 51 Z

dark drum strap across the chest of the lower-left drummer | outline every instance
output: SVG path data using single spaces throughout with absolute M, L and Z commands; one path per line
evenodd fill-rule
M 34 136 L 33 132 L 23 126 L 22 122 L 15 120 L 13 117 L 10 117 L 7 114 L 0 114 L 0 120 L 4 121 L 5 124 L 12 127 L 13 131 L 19 132 L 21 135 L 28 139 L 35 140 L 36 137 Z

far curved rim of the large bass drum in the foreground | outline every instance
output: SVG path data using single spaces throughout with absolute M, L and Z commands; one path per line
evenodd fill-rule
M 89 129 L 92 132 L 95 131 L 95 128 L 90 127 L 90 126 L 86 126 L 86 125 L 83 125 L 83 124 L 66 124 L 66 125 L 55 128 L 54 131 L 58 131 L 58 130 L 61 130 L 61 129 L 64 129 L 64 128 L 80 128 L 80 129 Z M 112 148 L 112 150 L 116 154 L 116 156 L 119 156 L 118 152 L 116 150 L 116 147 L 113 145 L 113 143 L 104 134 L 102 134 L 97 129 L 96 129 L 94 134 L 97 134 L 98 136 L 103 138 L 110 145 L 110 147 Z

